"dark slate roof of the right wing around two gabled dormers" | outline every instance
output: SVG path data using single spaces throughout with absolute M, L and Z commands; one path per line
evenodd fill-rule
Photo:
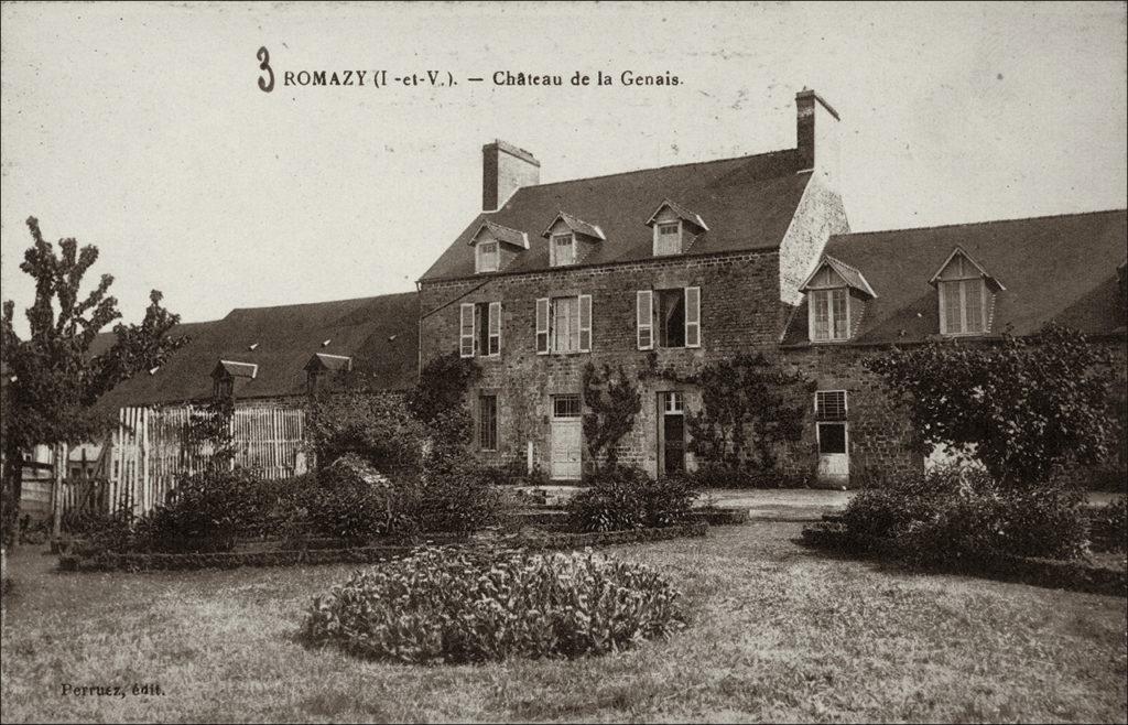
M 878 298 L 866 302 L 854 343 L 923 341 L 938 334 L 928 280 L 957 247 L 1005 286 L 995 294 L 992 334 L 1037 333 L 1057 320 L 1086 334 L 1123 334 L 1126 306 L 1117 267 L 1128 248 L 1128 212 L 1082 214 L 837 235 L 826 253 L 857 268 Z M 807 304 L 784 334 L 808 343 Z

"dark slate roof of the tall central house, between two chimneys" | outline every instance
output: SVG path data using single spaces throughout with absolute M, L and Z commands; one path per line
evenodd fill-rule
M 676 198 L 708 220 L 687 255 L 776 249 L 783 241 L 811 178 L 794 149 L 735 159 L 684 163 L 610 176 L 539 184 L 519 188 L 496 212 L 478 214 L 435 260 L 421 281 L 475 275 L 474 250 L 467 244 L 486 220 L 529 233 L 530 248 L 502 273 L 547 269 L 548 241 L 539 230 L 566 211 L 606 237 L 583 265 L 649 259 L 653 232 L 646 226 L 663 200 Z

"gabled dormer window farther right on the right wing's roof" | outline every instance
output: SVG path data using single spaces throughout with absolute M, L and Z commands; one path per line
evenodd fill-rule
M 936 286 L 941 335 L 988 331 L 992 297 L 1005 288 L 966 251 L 952 250 L 928 283 Z

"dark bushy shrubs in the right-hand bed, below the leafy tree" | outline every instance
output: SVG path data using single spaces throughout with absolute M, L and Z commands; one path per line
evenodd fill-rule
M 1020 490 L 984 470 L 938 467 L 858 492 L 841 523 L 857 539 L 893 540 L 922 563 L 996 552 L 1072 559 L 1087 550 L 1083 501 L 1065 479 Z

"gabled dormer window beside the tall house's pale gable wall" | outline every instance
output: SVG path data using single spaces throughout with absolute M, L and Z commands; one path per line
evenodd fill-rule
M 819 260 L 800 291 L 807 293 L 812 343 L 848 341 L 857 317 L 854 307 L 861 310 L 865 300 L 878 297 L 860 271 L 829 255 Z

